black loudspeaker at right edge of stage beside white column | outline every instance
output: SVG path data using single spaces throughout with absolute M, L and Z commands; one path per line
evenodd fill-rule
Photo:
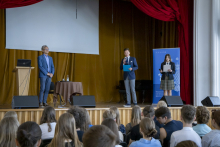
M 220 106 L 220 99 L 217 96 L 207 96 L 201 103 L 203 106 Z

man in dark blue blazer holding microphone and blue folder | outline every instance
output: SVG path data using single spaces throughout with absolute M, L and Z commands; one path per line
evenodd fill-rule
M 131 65 L 130 71 L 124 71 L 124 83 L 127 95 L 127 104 L 124 107 L 131 107 L 131 93 L 134 105 L 137 105 L 137 98 L 135 92 L 135 73 L 138 69 L 137 61 L 135 57 L 130 57 L 129 48 L 124 49 L 125 58 L 121 60 L 120 69 L 123 70 L 123 65 Z M 131 92 L 130 92 L 131 90 Z

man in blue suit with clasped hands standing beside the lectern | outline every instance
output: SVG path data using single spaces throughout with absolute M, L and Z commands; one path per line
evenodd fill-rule
M 53 59 L 48 55 L 49 48 L 43 45 L 41 48 L 43 55 L 38 57 L 39 78 L 40 78 L 40 95 L 39 106 L 48 106 L 47 96 L 50 91 L 51 78 L 54 74 Z

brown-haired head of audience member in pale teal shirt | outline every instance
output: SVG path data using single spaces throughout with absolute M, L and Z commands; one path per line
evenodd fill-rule
M 198 124 L 207 124 L 210 119 L 209 110 L 204 106 L 196 108 L 196 121 Z

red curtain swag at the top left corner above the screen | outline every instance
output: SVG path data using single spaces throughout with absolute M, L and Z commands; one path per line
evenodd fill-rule
M 43 0 L 0 0 L 0 9 L 32 5 Z

